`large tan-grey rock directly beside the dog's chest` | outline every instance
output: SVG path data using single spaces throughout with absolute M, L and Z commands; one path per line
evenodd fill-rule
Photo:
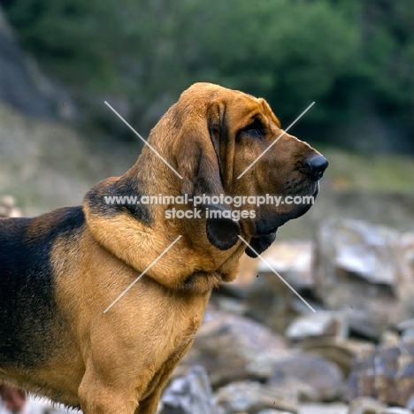
M 284 339 L 265 326 L 225 312 L 208 311 L 193 347 L 175 374 L 201 364 L 217 388 L 236 380 L 266 380 L 271 361 L 287 352 Z

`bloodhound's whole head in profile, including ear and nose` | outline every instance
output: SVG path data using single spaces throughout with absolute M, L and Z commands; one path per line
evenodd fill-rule
M 284 133 L 262 98 L 196 83 L 161 122 L 173 122 L 180 135 L 170 137 L 169 145 L 182 177 L 181 194 L 236 200 L 203 203 L 204 210 L 228 213 L 206 221 L 208 239 L 219 249 L 234 246 L 242 233 L 260 254 L 274 241 L 278 227 L 302 216 L 318 194 L 326 158 Z M 246 253 L 256 256 L 253 249 Z

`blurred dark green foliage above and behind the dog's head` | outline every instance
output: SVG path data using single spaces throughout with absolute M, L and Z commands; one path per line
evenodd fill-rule
M 286 126 L 374 111 L 414 131 L 410 0 L 0 0 L 23 45 L 79 94 L 125 99 L 153 125 L 180 92 L 212 81 L 264 96 Z M 411 140 L 411 141 L 410 141 Z

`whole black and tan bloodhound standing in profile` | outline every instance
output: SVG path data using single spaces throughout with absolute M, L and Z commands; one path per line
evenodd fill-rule
M 81 207 L 0 220 L 0 381 L 85 414 L 154 414 L 211 290 L 311 207 L 250 196 L 316 196 L 327 166 L 264 99 L 209 83 L 184 91 L 148 144 Z M 143 203 L 161 195 L 174 198 Z

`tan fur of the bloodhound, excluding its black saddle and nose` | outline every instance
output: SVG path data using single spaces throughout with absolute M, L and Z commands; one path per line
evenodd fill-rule
M 264 139 L 242 133 L 253 116 L 265 125 Z M 217 249 L 207 238 L 205 219 L 165 219 L 171 206 L 149 206 L 147 226 L 128 212 L 105 214 L 99 203 L 109 189 L 126 183 L 147 196 L 195 195 L 196 174 L 208 182 L 211 195 L 286 195 L 288 188 L 313 194 L 316 184 L 300 163 L 318 152 L 289 134 L 237 180 L 281 133 L 263 99 L 211 84 L 188 88 L 148 140 L 183 180 L 144 147 L 123 176 L 91 189 L 83 204 L 87 226 L 76 238 L 59 238 L 50 254 L 58 350 L 42 369 L 16 375 L 14 383 L 80 406 L 85 414 L 154 414 L 169 375 L 192 344 L 211 290 L 234 280 L 246 246 L 238 241 Z M 261 217 L 295 218 L 294 205 L 257 210 Z M 255 219 L 239 225 L 248 242 L 259 236 Z M 178 235 L 179 242 L 103 313 Z

